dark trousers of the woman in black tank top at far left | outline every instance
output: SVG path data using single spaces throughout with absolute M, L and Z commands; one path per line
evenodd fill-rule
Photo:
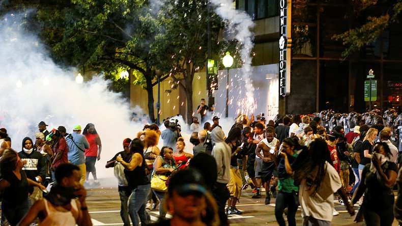
M 10 225 L 14 226 L 25 216 L 30 206 L 31 199 L 29 196 L 26 196 L 26 200 L 19 205 L 2 202 L 2 213 L 4 213 Z

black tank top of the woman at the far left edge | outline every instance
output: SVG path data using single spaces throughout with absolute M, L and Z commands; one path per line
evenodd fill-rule
M 17 206 L 22 204 L 28 197 L 29 184 L 26 174 L 23 170 L 20 170 L 19 173 L 21 174 L 21 180 L 13 172 L 3 175 L 3 179 L 10 183 L 10 186 L 4 189 L 3 203 Z

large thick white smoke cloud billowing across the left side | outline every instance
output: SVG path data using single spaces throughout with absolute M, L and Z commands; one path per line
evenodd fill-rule
M 20 151 L 25 136 L 35 140 L 40 121 L 48 130 L 64 125 L 69 133 L 75 124 L 83 129 L 93 123 L 102 141 L 98 177 L 113 177 L 113 170 L 104 170 L 106 161 L 123 150 L 123 139 L 134 138 L 142 123 L 130 121 L 133 110 L 120 94 L 107 90 L 108 81 L 95 76 L 78 84 L 74 68 L 54 64 L 37 34 L 24 30 L 22 18 L 7 14 L 0 21 L 0 126 L 7 128 L 12 148 Z

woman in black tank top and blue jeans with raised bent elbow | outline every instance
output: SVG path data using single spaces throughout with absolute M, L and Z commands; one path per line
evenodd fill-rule
M 139 222 L 141 222 L 141 225 L 147 225 L 148 219 L 145 205 L 151 191 L 151 182 L 146 173 L 147 163 L 142 154 L 143 144 L 140 139 L 135 138 L 130 143 L 129 148 L 132 154 L 130 162 L 125 162 L 119 156 L 116 158 L 125 168 L 124 174 L 131 189 L 128 213 L 133 225 L 139 225 Z

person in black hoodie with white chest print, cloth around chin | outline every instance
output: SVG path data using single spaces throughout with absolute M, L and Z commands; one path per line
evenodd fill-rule
M 18 153 L 18 156 L 21 158 L 21 161 L 26 162 L 22 167 L 26 177 L 42 183 L 46 177 L 47 170 L 45 157 L 40 152 L 34 150 L 34 143 L 30 137 L 25 137 L 22 140 L 22 150 Z M 31 194 L 32 203 L 42 198 L 42 191 L 39 187 L 30 185 L 28 192 Z

